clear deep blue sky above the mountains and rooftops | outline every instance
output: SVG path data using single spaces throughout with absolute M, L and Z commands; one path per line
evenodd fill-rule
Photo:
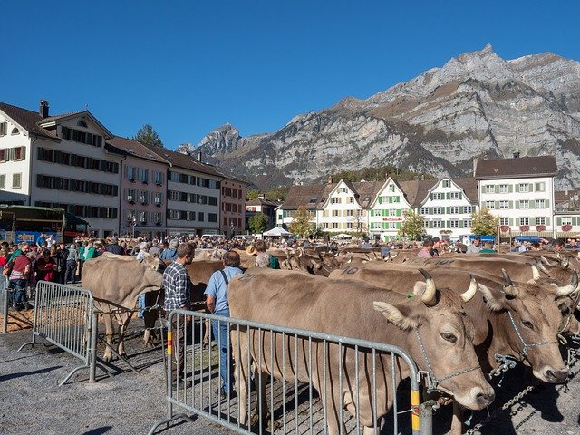
M 580 2 L 19 0 L 3 5 L 0 101 L 88 108 L 165 146 L 226 122 L 242 136 L 367 98 L 491 43 L 580 60 Z

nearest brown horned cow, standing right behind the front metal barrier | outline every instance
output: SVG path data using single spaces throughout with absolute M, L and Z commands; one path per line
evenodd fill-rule
M 411 275 L 407 274 L 410 281 Z M 434 283 L 428 275 L 426 277 L 427 282 L 415 281 L 415 289 L 422 295 L 409 298 L 395 292 L 386 292 L 374 285 L 362 284 L 358 280 L 329 279 L 293 271 L 252 268 L 231 281 L 229 307 L 232 317 L 399 346 L 411 354 L 422 370 L 429 370 L 430 362 L 434 375 L 445 378 L 440 382 L 440 388 L 454 394 L 457 401 L 470 409 L 485 408 L 493 401 L 494 392 L 478 368 L 477 356 L 471 343 L 472 325 L 462 314 L 462 304 L 464 300 L 473 297 L 475 287 L 469 287 L 462 296 L 447 292 L 438 298 Z M 418 339 L 419 332 L 421 342 Z M 270 341 L 258 340 L 255 331 L 248 334 L 240 330 L 239 337 L 237 335 L 237 330 L 234 330 L 233 355 L 239 367 L 235 371 L 239 394 L 238 415 L 240 424 L 244 425 L 247 424 L 248 348 L 254 363 L 261 364 L 258 372 L 271 373 L 280 379 L 283 377 L 281 368 L 284 363 L 286 381 L 313 382 L 314 389 L 321 397 L 324 394 L 329 397 L 324 406 L 326 424 L 331 435 L 344 430 L 340 403 L 352 415 L 360 416 L 362 426 L 365 427 L 364 433 L 373 430 L 375 419 L 380 420 L 391 408 L 393 391 L 396 391 L 398 383 L 409 376 L 406 364 L 397 362 L 394 368 L 396 381 L 391 384 L 389 354 L 378 354 L 380 361 L 376 367 L 379 374 L 376 384 L 373 384 L 366 372 L 370 370 L 370 366 L 366 365 L 370 353 L 364 350 L 361 351 L 363 362 L 360 362 L 357 373 L 353 349 L 348 346 L 343 347 L 339 364 L 339 348 L 336 344 L 324 346 L 317 341 L 298 338 L 296 346 L 299 356 L 295 360 L 291 356 L 294 351 L 290 351 L 295 349 L 295 345 L 283 344 L 278 333 L 274 333 L 273 353 Z M 312 365 L 304 357 L 308 353 L 309 343 L 314 352 Z M 291 347 L 286 348 L 284 353 L 281 347 L 288 344 Z M 426 362 L 421 346 L 429 355 L 429 362 Z M 286 355 L 285 362 L 281 361 L 283 354 Z M 275 362 L 270 365 L 269 361 L 273 357 Z M 321 365 L 324 358 L 327 360 L 326 367 Z M 343 382 L 338 380 L 339 372 L 343 374 Z M 262 387 L 262 402 L 266 403 L 266 382 L 258 384 Z M 342 385 L 342 391 L 339 385 Z M 374 388 L 376 397 L 368 392 Z M 359 394 L 362 391 L 365 392 Z M 267 411 L 267 406 L 263 410 Z

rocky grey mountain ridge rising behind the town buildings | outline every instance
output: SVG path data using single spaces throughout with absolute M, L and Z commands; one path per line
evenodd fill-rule
M 580 187 L 580 63 L 555 53 L 506 61 L 488 44 L 367 99 L 295 115 L 273 133 L 242 137 L 225 124 L 195 150 L 261 188 L 386 164 L 465 177 L 474 158 L 515 151 L 556 156 L 556 186 Z

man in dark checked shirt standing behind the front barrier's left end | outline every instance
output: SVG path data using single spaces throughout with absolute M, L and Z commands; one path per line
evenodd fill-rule
M 195 255 L 195 247 L 188 243 L 182 243 L 178 247 L 177 259 L 171 263 L 163 272 L 163 288 L 165 289 L 165 301 L 163 309 L 166 313 L 177 309 L 189 309 L 189 301 L 193 284 L 189 279 L 188 271 L 185 266 L 190 265 Z M 187 368 L 184 366 L 185 355 L 185 335 L 183 331 L 184 322 L 179 323 L 177 328 L 178 316 L 174 317 L 174 336 L 173 339 L 178 343 L 177 352 L 174 353 L 176 358 L 175 372 L 181 380 L 185 379 Z

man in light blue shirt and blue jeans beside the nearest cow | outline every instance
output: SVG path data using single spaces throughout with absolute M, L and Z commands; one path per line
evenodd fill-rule
M 227 304 L 227 285 L 235 275 L 241 274 L 239 268 L 240 258 L 236 251 L 227 251 L 222 257 L 223 270 L 214 272 L 209 278 L 206 295 L 206 305 L 209 313 L 229 317 L 229 305 Z M 166 296 L 167 297 L 167 296 Z M 231 362 L 227 360 L 227 355 L 231 355 L 229 343 L 229 324 L 227 322 L 212 321 L 211 326 L 214 337 L 218 341 L 219 349 L 219 375 L 222 386 L 219 394 L 226 397 L 234 394 L 234 370 Z

